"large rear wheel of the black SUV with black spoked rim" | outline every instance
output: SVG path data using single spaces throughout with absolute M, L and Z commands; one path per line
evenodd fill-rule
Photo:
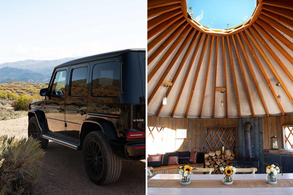
M 86 173 L 94 183 L 106 185 L 118 180 L 122 161 L 113 154 L 103 132 L 89 133 L 83 142 L 82 153 Z

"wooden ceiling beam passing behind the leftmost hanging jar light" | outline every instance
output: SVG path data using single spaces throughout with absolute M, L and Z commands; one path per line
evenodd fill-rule
M 181 70 L 182 70 L 182 68 L 183 68 L 183 66 L 184 66 L 184 63 L 186 62 L 186 60 L 187 60 L 187 58 L 188 58 L 188 56 L 189 56 L 189 54 L 190 54 L 192 48 L 194 47 L 195 42 L 197 41 L 198 37 L 199 37 L 201 34 L 202 34 L 201 32 L 197 31 L 197 34 L 194 35 L 192 41 L 190 42 L 190 44 L 189 44 L 189 46 L 188 46 L 188 48 L 187 48 L 187 50 L 186 50 L 186 52 L 185 52 L 185 54 L 184 54 L 184 57 L 183 57 L 183 59 L 181 60 L 179 66 L 178 66 L 178 69 L 177 69 L 177 71 L 176 71 L 176 73 L 175 73 L 175 75 L 174 75 L 174 77 L 173 77 L 173 79 L 172 79 L 172 83 L 173 83 L 173 85 L 174 85 L 174 83 L 176 82 L 176 80 L 177 80 L 177 78 L 178 78 L 178 75 L 179 75 L 179 73 L 181 72 Z M 166 94 L 166 98 L 168 98 L 168 96 L 169 96 L 169 94 L 170 94 L 170 92 L 171 92 L 171 90 L 172 90 L 173 85 L 172 85 L 171 87 L 169 87 L 169 90 L 168 90 L 168 92 L 167 92 L 167 94 Z M 180 94 L 180 95 L 181 95 L 181 94 Z M 160 114 L 160 112 L 161 112 L 163 106 L 164 106 L 163 104 L 160 105 L 160 108 L 158 109 L 158 111 L 157 111 L 157 115 L 156 115 L 156 116 L 159 116 L 159 114 Z

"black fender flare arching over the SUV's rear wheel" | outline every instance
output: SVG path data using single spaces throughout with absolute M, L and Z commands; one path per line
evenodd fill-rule
M 111 122 L 109 122 L 105 119 L 101 119 L 101 118 L 89 117 L 88 119 L 85 119 L 81 123 L 81 129 L 79 132 L 79 140 L 81 140 L 81 133 L 82 133 L 83 124 L 86 122 L 95 123 L 95 124 L 99 125 L 99 127 L 102 129 L 103 133 L 107 136 L 107 138 L 109 140 L 114 140 L 117 138 L 117 131 L 116 131 L 114 125 L 111 124 Z M 115 134 L 116 134 L 116 136 L 115 136 Z

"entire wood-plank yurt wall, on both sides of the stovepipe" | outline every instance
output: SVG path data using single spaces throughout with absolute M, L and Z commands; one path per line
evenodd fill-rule
M 163 129 L 161 134 L 161 147 L 160 152 L 173 152 L 173 151 L 203 151 L 205 147 L 205 126 L 238 126 L 239 122 L 257 120 L 258 126 L 255 128 L 262 128 L 262 144 L 263 149 L 270 148 L 271 128 L 273 135 L 279 137 L 279 148 L 283 148 L 283 125 L 293 124 L 293 115 L 276 116 L 276 117 L 260 117 L 260 118 L 233 118 L 233 119 L 189 119 L 189 118 L 172 118 L 172 117 L 156 117 L 148 116 L 147 125 L 157 127 L 167 127 Z M 259 123 L 262 123 L 259 124 Z M 175 129 L 187 129 L 187 139 L 175 139 Z M 238 126 L 239 129 L 239 126 Z M 256 131 L 255 131 L 256 133 Z M 261 131 L 258 131 L 261 136 Z M 149 130 L 147 129 L 147 136 Z M 239 134 L 238 134 L 239 136 Z M 147 138 L 148 139 L 148 138 Z M 156 139 L 156 138 L 155 138 Z M 238 137 L 241 150 L 243 149 L 241 144 L 241 137 Z M 159 140 L 160 141 L 160 140 Z M 261 139 L 259 138 L 261 142 Z M 262 144 L 258 143 L 259 152 L 262 152 Z

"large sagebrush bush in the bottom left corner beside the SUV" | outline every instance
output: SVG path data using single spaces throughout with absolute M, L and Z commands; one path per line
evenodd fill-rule
M 44 154 L 39 141 L 32 137 L 18 140 L 0 136 L 0 195 L 35 194 L 42 165 L 38 158 Z

